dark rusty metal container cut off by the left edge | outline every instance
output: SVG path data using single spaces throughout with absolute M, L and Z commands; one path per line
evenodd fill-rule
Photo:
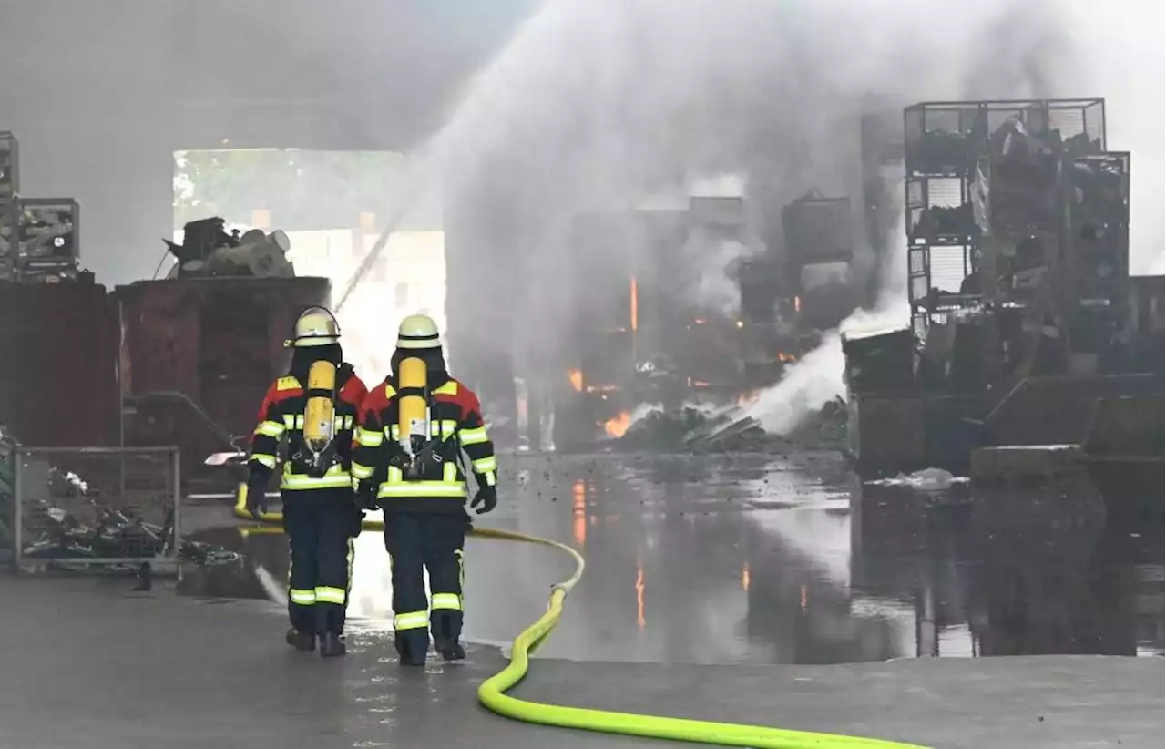
M 0 422 L 24 444 L 117 444 L 117 308 L 92 278 L 0 281 Z

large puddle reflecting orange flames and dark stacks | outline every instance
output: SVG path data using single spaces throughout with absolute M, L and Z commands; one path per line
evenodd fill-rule
M 480 524 L 570 541 L 588 558 L 545 656 L 824 664 L 1166 652 L 1161 536 L 1107 530 L 1095 513 L 1062 505 L 1018 522 L 1006 502 L 965 487 L 863 487 L 829 455 L 528 456 L 505 474 L 499 509 Z M 220 528 L 199 540 L 246 559 L 191 570 L 185 593 L 282 594 L 283 537 Z M 469 635 L 508 640 L 567 574 L 547 550 L 472 540 Z M 382 626 L 389 601 L 380 537 L 365 533 L 350 614 Z

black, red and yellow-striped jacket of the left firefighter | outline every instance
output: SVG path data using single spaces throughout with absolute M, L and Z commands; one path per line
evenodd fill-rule
M 287 376 L 272 383 L 259 406 L 259 425 L 251 438 L 251 459 L 247 461 L 253 474 L 271 475 L 275 470 L 280 441 L 286 438 L 287 453 L 280 476 L 282 491 L 351 488 L 352 433 L 360 402 L 368 391 L 350 364 L 337 369 L 336 386 L 332 439 L 336 450 L 326 470 L 322 475 L 312 475 L 294 460 L 298 450 L 307 449 L 303 440 L 307 391 L 296 377 Z

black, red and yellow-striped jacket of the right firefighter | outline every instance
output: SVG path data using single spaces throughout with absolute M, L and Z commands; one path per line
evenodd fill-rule
M 393 378 L 372 388 L 360 406 L 352 447 L 352 484 L 375 488 L 386 512 L 464 512 L 466 470 L 479 488 L 498 482 L 494 446 L 486 434 L 482 405 L 472 390 L 445 376 L 429 391 L 429 436 L 438 461 L 428 462 L 419 478 L 407 478 L 394 460 L 405 456 L 398 440 L 399 396 Z

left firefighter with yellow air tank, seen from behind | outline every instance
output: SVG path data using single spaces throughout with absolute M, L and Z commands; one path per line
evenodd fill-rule
M 292 366 L 275 380 L 259 407 L 259 426 L 247 462 L 247 510 L 267 510 L 265 492 L 276 467 L 280 440 L 287 452 L 280 474 L 283 530 L 292 560 L 288 573 L 287 642 L 319 654 L 343 656 L 344 611 L 351 587 L 352 539 L 363 512 L 350 474 L 357 410 L 367 394 L 340 350 L 340 329 L 323 307 L 295 323 Z

